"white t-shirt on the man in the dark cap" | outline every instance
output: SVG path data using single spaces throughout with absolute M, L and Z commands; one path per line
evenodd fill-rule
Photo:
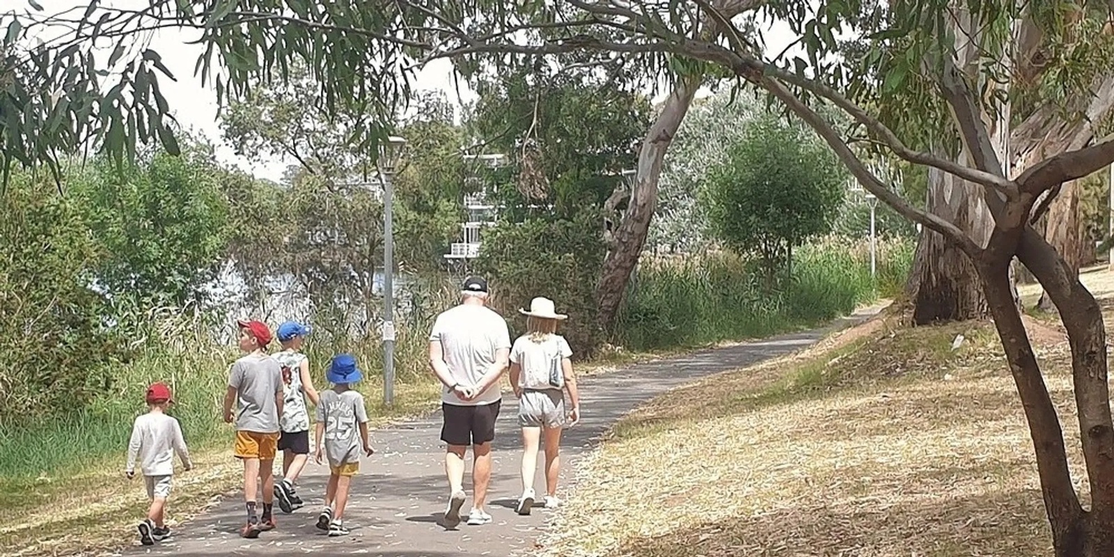
M 453 381 L 473 385 L 495 363 L 496 352 L 510 348 L 510 329 L 507 320 L 491 309 L 461 304 L 437 316 L 429 340 L 441 343 L 441 355 Z M 442 402 L 461 407 L 490 404 L 501 399 L 498 383 L 470 401 L 458 399 L 448 388 L 441 392 Z

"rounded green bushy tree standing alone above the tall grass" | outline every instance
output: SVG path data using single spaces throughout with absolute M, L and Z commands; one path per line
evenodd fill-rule
M 710 173 L 705 203 L 716 235 L 735 253 L 754 253 L 775 272 L 795 246 L 831 231 L 847 178 L 811 133 L 759 117 L 727 156 Z

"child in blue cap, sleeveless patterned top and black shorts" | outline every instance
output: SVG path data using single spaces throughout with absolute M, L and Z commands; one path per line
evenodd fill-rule
M 310 334 L 310 325 L 287 321 L 278 325 L 275 336 L 282 343 L 282 351 L 273 358 L 282 367 L 283 411 L 280 418 L 282 433 L 278 450 L 282 451 L 282 481 L 275 482 L 275 500 L 283 512 L 293 512 L 301 507 L 294 483 L 310 460 L 310 411 L 305 399 L 317 404 L 317 390 L 310 378 L 310 360 L 302 353 L 302 342 Z

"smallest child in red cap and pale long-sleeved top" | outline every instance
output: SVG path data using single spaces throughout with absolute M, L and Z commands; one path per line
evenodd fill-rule
M 189 450 L 182 438 L 178 420 L 166 414 L 172 402 L 169 387 L 163 383 L 148 387 L 148 412 L 136 418 L 131 426 L 131 440 L 128 442 L 128 463 L 124 473 L 128 479 L 135 478 L 138 459 L 147 486 L 147 497 L 150 499 L 147 518 L 138 526 L 139 541 L 145 546 L 162 541 L 170 535 L 170 529 L 163 521 L 163 514 L 174 478 L 174 453 L 182 459 L 183 468 L 189 470 L 194 467 L 189 461 Z

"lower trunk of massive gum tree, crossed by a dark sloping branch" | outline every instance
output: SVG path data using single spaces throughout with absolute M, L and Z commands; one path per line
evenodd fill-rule
M 928 173 L 927 211 L 956 223 L 980 246 L 994 227 L 981 188 L 935 168 Z M 927 227 L 920 233 L 906 293 L 915 325 L 981 319 L 988 312 L 970 258 Z

